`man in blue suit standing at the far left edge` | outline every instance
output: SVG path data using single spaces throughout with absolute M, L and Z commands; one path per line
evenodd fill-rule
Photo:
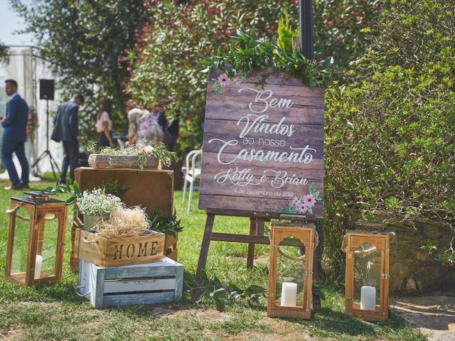
M 4 126 L 3 141 L 1 144 L 1 158 L 8 170 L 11 186 L 6 190 L 20 190 L 28 188 L 28 161 L 26 158 L 25 141 L 27 140 L 26 126 L 28 116 L 28 105 L 17 93 L 17 82 L 5 80 L 5 90 L 11 100 L 6 108 L 6 117 L 0 117 L 1 125 Z M 13 163 L 13 153 L 21 163 L 21 180 L 17 175 Z

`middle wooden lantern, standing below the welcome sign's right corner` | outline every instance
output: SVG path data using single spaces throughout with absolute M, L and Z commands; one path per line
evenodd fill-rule
M 311 316 L 314 224 L 272 222 L 270 227 L 269 295 L 267 316 Z

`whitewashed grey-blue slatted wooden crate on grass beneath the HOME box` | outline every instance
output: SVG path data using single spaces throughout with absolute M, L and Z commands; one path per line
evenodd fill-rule
M 95 308 L 181 301 L 182 289 L 183 266 L 167 257 L 115 268 L 79 261 L 77 292 Z

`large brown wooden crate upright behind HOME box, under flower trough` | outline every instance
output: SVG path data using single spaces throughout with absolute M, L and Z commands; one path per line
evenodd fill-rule
M 122 186 L 128 186 L 122 201 L 129 207 L 144 207 L 147 214 L 156 212 L 160 215 L 173 214 L 173 171 L 139 171 L 136 169 L 98 169 L 90 167 L 76 168 L 75 180 L 80 189 L 92 190 L 104 180 L 118 180 Z M 82 227 L 82 215 L 75 215 L 71 230 L 70 266 L 73 271 L 79 265 L 75 254 L 76 230 Z M 172 252 L 172 251 L 171 251 Z

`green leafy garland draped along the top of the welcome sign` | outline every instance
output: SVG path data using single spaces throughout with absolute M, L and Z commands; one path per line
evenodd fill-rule
M 277 45 L 276 37 L 258 37 L 254 30 L 237 31 L 228 53 L 218 48 L 217 54 L 201 62 L 203 72 L 219 69 L 220 77 L 213 79 L 218 94 L 230 82 L 243 82 L 252 72 L 272 68 L 291 77 L 300 78 L 305 85 L 321 87 L 333 80 L 333 58 L 324 63 L 308 60 L 298 50 L 287 52 Z

